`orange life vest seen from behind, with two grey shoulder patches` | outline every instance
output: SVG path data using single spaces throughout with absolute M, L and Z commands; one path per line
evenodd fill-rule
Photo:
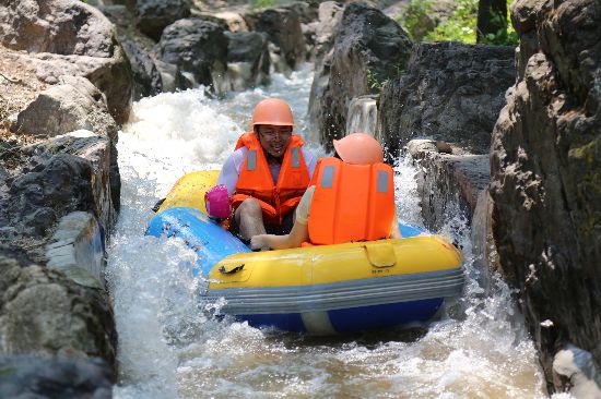
M 309 209 L 313 244 L 340 244 L 390 237 L 394 218 L 393 171 L 386 164 L 318 161 Z

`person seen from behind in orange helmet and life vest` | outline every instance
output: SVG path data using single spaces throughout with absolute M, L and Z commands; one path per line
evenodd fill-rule
M 337 157 L 319 159 L 310 186 L 296 208 L 292 231 L 255 235 L 250 240 L 252 249 L 401 238 L 393 171 L 384 164 L 379 143 L 368 134 L 353 133 L 334 140 L 333 145 Z

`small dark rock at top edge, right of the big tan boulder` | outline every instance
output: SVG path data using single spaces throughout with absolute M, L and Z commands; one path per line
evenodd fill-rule
M 158 41 L 165 27 L 190 16 L 190 4 L 187 0 L 137 0 L 135 13 L 140 32 Z

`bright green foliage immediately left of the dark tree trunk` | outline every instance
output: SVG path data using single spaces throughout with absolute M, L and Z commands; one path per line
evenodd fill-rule
M 475 43 L 479 0 L 457 0 L 452 15 L 425 36 L 425 40 L 456 40 Z

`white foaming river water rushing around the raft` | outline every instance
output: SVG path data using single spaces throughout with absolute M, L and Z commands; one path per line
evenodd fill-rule
M 144 235 L 151 207 L 180 176 L 221 166 L 257 101 L 286 99 L 304 126 L 311 78 L 306 65 L 225 99 L 187 90 L 134 105 L 119 136 L 122 205 L 107 273 L 119 332 L 116 398 L 544 397 L 511 292 L 496 277 L 481 287 L 469 229 L 458 215 L 438 233 L 463 247 L 462 298 L 427 328 L 329 338 L 208 317 L 196 298 L 202 281 L 187 271 L 193 252 L 178 240 Z M 416 170 L 399 159 L 396 171 L 399 215 L 421 225 Z

